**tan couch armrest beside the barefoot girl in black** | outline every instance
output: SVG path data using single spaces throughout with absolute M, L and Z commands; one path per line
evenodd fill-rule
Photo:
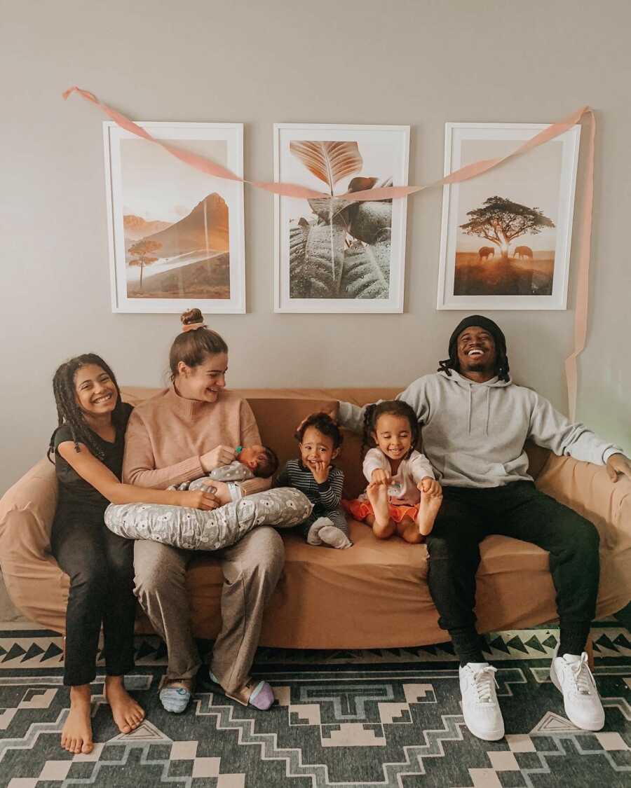
M 62 632 L 68 578 L 50 555 L 55 507 L 54 466 L 42 459 L 0 500 L 0 567 L 16 608 L 29 619 Z

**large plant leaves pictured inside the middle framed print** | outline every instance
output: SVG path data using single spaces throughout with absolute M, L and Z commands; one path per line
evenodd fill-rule
M 291 298 L 388 298 L 392 200 L 352 203 L 334 195 L 335 184 L 364 164 L 357 142 L 293 140 L 289 151 L 330 192 L 308 200 L 312 215 L 289 224 Z M 354 177 L 348 191 L 372 189 L 377 180 Z

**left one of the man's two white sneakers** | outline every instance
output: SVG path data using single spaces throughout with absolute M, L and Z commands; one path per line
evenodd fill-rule
M 460 691 L 465 724 L 477 738 L 497 742 L 504 735 L 504 720 L 495 694 L 495 667 L 468 662 L 460 668 Z

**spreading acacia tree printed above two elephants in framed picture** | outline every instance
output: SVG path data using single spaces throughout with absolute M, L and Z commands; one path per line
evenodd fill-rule
M 508 262 L 511 241 L 524 236 L 536 235 L 543 228 L 554 227 L 554 221 L 543 215 L 539 208 L 513 203 L 506 197 L 489 197 L 481 208 L 467 211 L 471 219 L 461 229 L 468 236 L 480 236 L 502 251 L 502 261 Z

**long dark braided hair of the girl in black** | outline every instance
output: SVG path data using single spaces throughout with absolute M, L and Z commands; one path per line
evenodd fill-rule
M 55 429 L 54 433 L 50 436 L 50 443 L 48 444 L 48 451 L 46 452 L 50 463 L 53 462 L 52 459 L 50 459 L 50 455 L 54 454 L 54 437 L 57 434 L 59 427 L 64 424 L 69 426 L 70 432 L 72 433 L 75 452 L 80 451 L 79 444 L 82 443 L 90 449 L 91 453 L 95 455 L 95 457 L 103 459 L 103 449 L 100 448 L 95 439 L 95 434 L 85 422 L 84 414 L 77 404 L 75 392 L 74 376 L 77 374 L 77 370 L 80 370 L 82 366 L 87 366 L 88 364 L 100 366 L 101 369 L 110 376 L 114 386 L 116 387 L 117 393 L 116 407 L 114 407 L 114 411 L 112 411 L 112 421 L 114 424 L 117 424 L 121 418 L 121 391 L 118 388 L 118 383 L 116 382 L 114 373 L 112 370 L 110 370 L 110 367 L 107 366 L 106 362 L 104 362 L 103 359 L 95 353 L 84 353 L 83 355 L 77 355 L 74 359 L 66 361 L 62 364 L 62 366 L 58 367 L 58 370 L 55 372 L 53 378 L 53 393 L 54 402 L 57 406 L 58 424 L 57 429 Z

